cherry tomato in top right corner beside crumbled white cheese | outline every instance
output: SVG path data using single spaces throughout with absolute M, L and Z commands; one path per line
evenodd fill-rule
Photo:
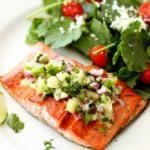
M 150 2 L 143 3 L 139 8 L 139 12 L 143 17 L 144 22 L 150 24 Z

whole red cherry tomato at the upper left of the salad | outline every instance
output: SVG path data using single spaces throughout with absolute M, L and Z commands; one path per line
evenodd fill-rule
M 69 2 L 67 4 L 62 5 L 61 8 L 62 15 L 65 17 L 74 18 L 76 15 L 83 14 L 82 6 L 77 2 Z

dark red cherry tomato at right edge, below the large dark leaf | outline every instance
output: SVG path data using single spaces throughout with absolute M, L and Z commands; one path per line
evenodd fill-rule
M 150 85 L 150 64 L 147 69 L 141 73 L 140 81 L 145 85 Z

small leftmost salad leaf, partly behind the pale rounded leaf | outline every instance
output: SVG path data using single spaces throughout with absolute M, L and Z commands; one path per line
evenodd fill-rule
M 37 28 L 43 22 L 43 19 L 33 19 L 32 25 L 29 28 L 28 35 L 26 36 L 26 43 L 35 44 L 39 41 L 43 41 L 43 38 L 38 37 Z

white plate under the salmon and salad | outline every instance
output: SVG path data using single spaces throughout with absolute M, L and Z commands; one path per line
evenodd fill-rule
M 25 36 L 30 25 L 25 19 L 27 12 L 36 8 L 41 0 L 5 0 L 0 6 L 0 74 L 13 68 L 30 51 L 25 44 Z M 80 54 L 71 50 L 58 50 L 59 53 L 73 57 L 87 64 Z M 2 89 L 3 90 L 3 89 Z M 44 140 L 54 139 L 56 150 L 86 150 L 74 144 L 53 129 L 42 124 L 20 107 L 8 93 L 3 90 L 9 113 L 14 112 L 25 123 L 21 133 L 15 134 L 7 125 L 0 127 L 1 150 L 43 150 Z M 107 150 L 141 150 L 150 149 L 150 109 L 147 110 L 126 128 L 106 148 Z

